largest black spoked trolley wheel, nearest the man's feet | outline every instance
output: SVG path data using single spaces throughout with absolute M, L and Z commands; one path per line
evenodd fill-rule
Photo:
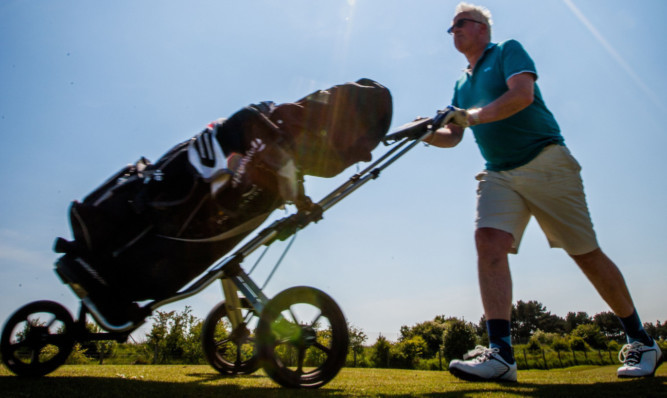
M 345 364 L 347 322 L 336 302 L 311 287 L 270 300 L 259 320 L 257 349 L 266 373 L 288 388 L 319 388 Z

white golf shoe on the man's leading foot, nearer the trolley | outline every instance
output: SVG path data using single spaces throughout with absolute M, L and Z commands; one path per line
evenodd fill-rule
M 477 346 L 464 360 L 449 363 L 449 372 L 468 381 L 516 381 L 516 362 L 507 363 L 497 348 Z

